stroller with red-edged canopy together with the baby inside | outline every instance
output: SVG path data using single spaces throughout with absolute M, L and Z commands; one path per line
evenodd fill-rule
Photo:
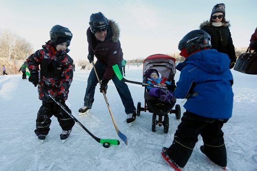
M 140 111 L 148 110 L 153 113 L 152 131 L 156 131 L 156 125 L 163 125 L 164 133 L 169 131 L 168 113 L 175 113 L 176 119 L 180 119 L 180 105 L 176 104 L 176 98 L 172 92 L 166 89 L 167 86 L 175 86 L 174 76 L 175 58 L 155 54 L 148 56 L 143 62 L 143 83 L 147 86 L 144 89 L 144 108 L 141 108 L 141 102 L 137 104 L 137 116 Z M 175 110 L 172 110 L 175 105 Z M 158 119 L 156 117 L 158 116 Z

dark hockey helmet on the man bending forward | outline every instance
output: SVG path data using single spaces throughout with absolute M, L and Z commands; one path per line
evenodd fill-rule
M 104 31 L 108 28 L 108 19 L 103 13 L 98 12 L 91 14 L 89 19 L 89 26 L 92 33 Z

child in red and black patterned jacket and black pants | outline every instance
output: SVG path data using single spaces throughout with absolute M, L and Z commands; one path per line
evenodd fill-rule
M 28 59 L 30 71 L 29 81 L 36 87 L 39 83 L 71 113 L 65 101 L 68 98 L 69 87 L 73 78 L 73 60 L 67 54 L 72 33 L 66 27 L 55 25 L 50 30 L 50 40 L 43 49 L 36 51 Z M 40 72 L 40 79 L 39 79 Z M 75 121 L 54 102 L 46 92 L 38 87 L 42 106 L 36 118 L 35 134 L 44 140 L 50 131 L 51 117 L 54 115 L 62 127 L 60 139 L 69 138 Z

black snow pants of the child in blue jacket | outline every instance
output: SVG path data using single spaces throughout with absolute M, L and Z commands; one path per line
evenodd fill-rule
M 228 119 L 206 118 L 186 111 L 168 148 L 169 157 L 180 167 L 184 167 L 198 141 L 200 134 L 204 141 L 206 156 L 219 166 L 227 165 L 227 152 L 222 126 Z

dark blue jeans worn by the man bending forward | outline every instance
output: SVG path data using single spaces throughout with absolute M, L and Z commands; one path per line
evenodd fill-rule
M 121 63 L 119 63 L 118 66 L 122 73 Z M 107 69 L 107 65 L 104 65 L 103 63 L 99 62 L 99 60 L 97 60 L 97 62 L 95 63 L 95 67 L 96 67 L 96 71 L 99 76 L 99 79 L 101 80 Z M 134 106 L 134 102 L 131 97 L 130 90 L 127 87 L 127 84 L 123 81 L 120 81 L 115 74 L 114 74 L 112 80 L 115 84 L 115 87 L 121 98 L 122 104 L 125 108 L 125 113 L 126 114 L 136 113 L 136 108 Z M 98 83 L 97 76 L 96 76 L 95 70 L 93 68 L 93 69 L 91 69 L 91 72 L 87 79 L 87 88 L 86 88 L 86 93 L 85 93 L 85 97 L 84 97 L 84 105 L 89 108 L 92 107 L 93 102 L 94 102 L 94 95 L 95 95 L 95 89 L 96 89 L 97 83 Z

